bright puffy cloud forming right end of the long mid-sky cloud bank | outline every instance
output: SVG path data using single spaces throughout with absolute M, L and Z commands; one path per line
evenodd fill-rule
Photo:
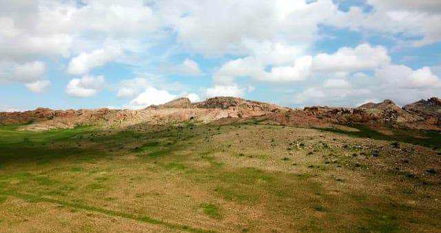
M 386 48 L 363 43 L 356 48 L 340 48 L 334 54 L 317 54 L 313 68 L 320 72 L 372 70 L 387 65 L 390 61 Z

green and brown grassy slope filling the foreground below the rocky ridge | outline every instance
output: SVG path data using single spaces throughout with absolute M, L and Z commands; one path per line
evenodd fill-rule
M 0 126 L 0 232 L 439 231 L 440 134 L 358 130 Z

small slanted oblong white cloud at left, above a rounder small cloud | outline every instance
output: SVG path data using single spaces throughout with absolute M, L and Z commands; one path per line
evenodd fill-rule
M 69 74 L 87 74 L 89 70 L 112 61 L 122 53 L 121 48 L 107 48 L 94 50 L 90 53 L 81 52 L 70 60 Z

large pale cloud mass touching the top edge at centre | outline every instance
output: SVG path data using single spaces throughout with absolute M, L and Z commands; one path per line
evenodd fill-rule
M 330 0 L 159 1 L 157 7 L 187 49 L 207 56 L 249 53 L 249 40 L 305 47 L 336 10 Z

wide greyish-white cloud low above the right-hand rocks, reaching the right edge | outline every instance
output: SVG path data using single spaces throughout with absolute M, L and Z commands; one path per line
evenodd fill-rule
M 373 75 L 355 73 L 347 79 L 326 79 L 292 96 L 294 105 L 334 105 L 356 107 L 369 101 L 393 99 L 404 105 L 438 96 L 441 79 L 428 67 L 412 70 L 405 65 L 384 65 Z

